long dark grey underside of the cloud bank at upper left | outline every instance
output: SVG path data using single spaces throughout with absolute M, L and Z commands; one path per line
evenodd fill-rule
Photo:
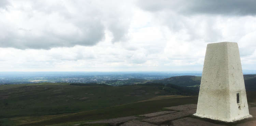
M 0 39 L 0 46 L 19 49 L 50 49 L 53 47 L 72 47 L 75 45 L 93 46 L 104 38 L 104 27 L 101 24 L 88 22 L 80 27 L 79 30 L 81 33 L 74 33 L 68 36 L 47 31 L 41 31 L 42 34 L 40 36 L 33 35 L 34 32 L 38 32 L 35 30 L 23 30 L 22 32 L 25 35 L 9 31 L 5 38 Z

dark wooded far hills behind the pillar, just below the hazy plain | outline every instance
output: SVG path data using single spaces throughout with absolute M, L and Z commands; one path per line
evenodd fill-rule
M 256 91 L 256 75 L 244 75 L 245 88 L 247 91 Z M 112 86 L 123 86 L 123 85 L 149 85 L 158 86 L 162 89 L 168 90 L 169 87 L 173 93 L 179 95 L 190 95 L 198 92 L 201 83 L 201 77 L 199 76 L 176 76 L 161 80 L 143 80 L 143 79 L 128 79 L 128 80 L 110 80 L 105 81 L 103 84 Z M 178 86 L 175 87 L 174 85 Z M 168 88 L 165 88 L 168 87 Z M 181 87 L 184 87 L 181 89 Z M 188 88 L 185 88 L 188 87 Z M 179 91 L 175 91 L 179 88 Z M 182 90 L 182 91 L 181 91 Z M 191 92 L 192 91 L 192 92 Z M 184 93 L 190 92 L 190 93 Z

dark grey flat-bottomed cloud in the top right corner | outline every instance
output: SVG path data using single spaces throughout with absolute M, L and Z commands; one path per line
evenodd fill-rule
M 170 9 L 190 14 L 255 15 L 255 0 L 139 0 L 138 5 L 151 12 Z

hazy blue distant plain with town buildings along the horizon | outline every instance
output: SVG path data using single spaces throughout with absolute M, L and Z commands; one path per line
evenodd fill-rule
M 254 74 L 255 71 L 244 71 Z M 201 76 L 201 71 L 152 71 L 152 72 L 0 72 L 1 84 L 25 83 L 101 83 L 109 80 L 160 80 L 174 76 Z

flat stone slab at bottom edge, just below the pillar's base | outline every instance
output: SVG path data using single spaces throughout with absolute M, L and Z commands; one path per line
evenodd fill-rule
M 225 126 L 225 125 L 219 125 L 219 124 L 214 124 L 190 117 L 178 119 L 172 121 L 173 126 Z

